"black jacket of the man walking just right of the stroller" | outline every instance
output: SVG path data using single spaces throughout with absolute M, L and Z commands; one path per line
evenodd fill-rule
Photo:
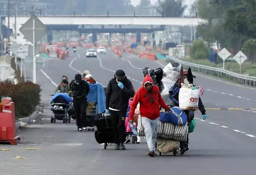
M 73 92 L 74 99 L 85 98 L 90 91 L 90 87 L 85 80 L 82 80 L 80 84 L 76 84 L 75 80 L 70 82 L 70 90 Z

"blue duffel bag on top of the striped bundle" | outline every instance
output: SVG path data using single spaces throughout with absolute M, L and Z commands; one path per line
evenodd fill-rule
M 160 112 L 160 121 L 175 125 L 186 125 L 187 115 L 179 107 L 171 107 L 168 113 Z

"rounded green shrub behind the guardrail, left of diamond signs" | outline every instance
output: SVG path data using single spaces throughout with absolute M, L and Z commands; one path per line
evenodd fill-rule
M 206 59 L 208 56 L 208 47 L 204 40 L 195 40 L 189 48 L 189 54 L 194 59 Z

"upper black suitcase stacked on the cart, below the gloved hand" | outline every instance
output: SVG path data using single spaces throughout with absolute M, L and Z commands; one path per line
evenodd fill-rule
M 108 128 L 113 128 L 110 114 L 105 114 L 105 113 L 97 114 L 95 116 L 95 125 L 97 126 L 97 130 L 99 132 Z

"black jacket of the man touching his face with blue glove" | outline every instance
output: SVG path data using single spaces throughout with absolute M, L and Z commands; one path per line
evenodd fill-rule
M 135 94 L 132 82 L 124 78 L 123 89 L 121 89 L 116 82 L 116 78 L 109 81 L 106 90 L 106 109 L 109 107 L 116 110 L 123 110 L 128 108 L 129 98 Z

